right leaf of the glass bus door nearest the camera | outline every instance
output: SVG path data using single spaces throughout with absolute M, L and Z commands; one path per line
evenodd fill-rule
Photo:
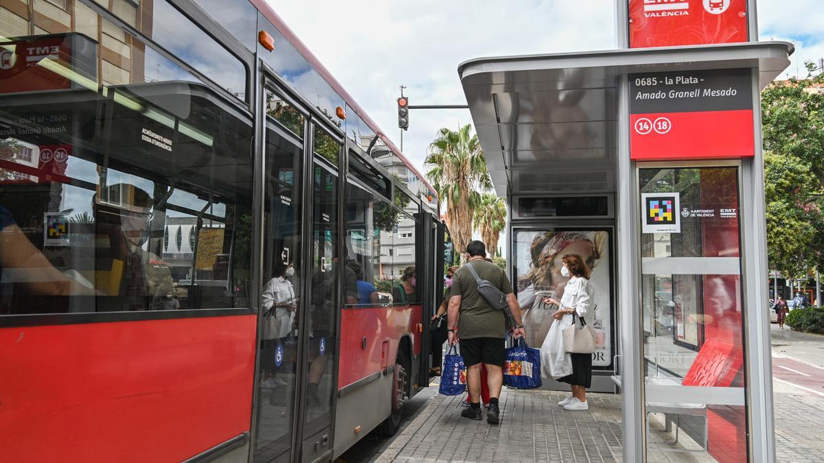
M 357 279 L 339 252 L 339 158 L 342 144 L 321 126 L 312 129 L 311 216 L 309 217 L 308 298 L 299 322 L 306 353 L 302 358 L 301 461 L 315 461 L 332 449 L 335 409 L 338 313 L 341 297 L 358 295 Z M 343 290 L 341 292 L 341 289 Z M 330 454 L 331 455 L 331 454 Z

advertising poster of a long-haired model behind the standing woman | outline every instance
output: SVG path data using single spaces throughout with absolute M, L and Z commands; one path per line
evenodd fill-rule
M 610 233 L 600 231 L 516 230 L 515 278 L 517 301 L 523 314 L 527 344 L 540 348 L 552 325 L 557 306 L 545 304 L 544 297 L 560 301 L 569 278 L 561 275 L 561 259 L 577 254 L 592 269 L 589 281 L 595 290 L 594 313 L 586 316 L 596 335 L 593 367 L 612 364 L 612 277 Z

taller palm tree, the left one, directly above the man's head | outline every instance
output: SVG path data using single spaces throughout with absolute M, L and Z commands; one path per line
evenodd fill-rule
M 438 138 L 429 145 L 425 161 L 432 166 L 426 177 L 447 203 L 447 227 L 461 253 L 472 238 L 472 219 L 480 206 L 479 191 L 492 188 L 484 152 L 471 130 L 470 124 L 457 132 L 438 130 Z

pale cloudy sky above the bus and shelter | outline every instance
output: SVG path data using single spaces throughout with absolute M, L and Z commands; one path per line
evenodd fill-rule
M 269 0 L 349 94 L 400 146 L 396 99 L 466 105 L 457 67 L 471 58 L 614 49 L 611 0 Z M 760 0 L 761 40 L 796 45 L 783 77 L 824 58 L 821 0 Z M 403 152 L 425 172 L 441 127 L 471 124 L 469 110 L 412 110 Z

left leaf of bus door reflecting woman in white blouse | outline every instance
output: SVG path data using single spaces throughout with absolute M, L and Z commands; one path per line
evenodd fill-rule
M 307 281 L 300 255 L 308 118 L 281 93 L 266 88 L 264 94 L 262 290 L 252 455 L 254 461 L 293 461 L 298 358 L 305 336 L 297 324 Z

